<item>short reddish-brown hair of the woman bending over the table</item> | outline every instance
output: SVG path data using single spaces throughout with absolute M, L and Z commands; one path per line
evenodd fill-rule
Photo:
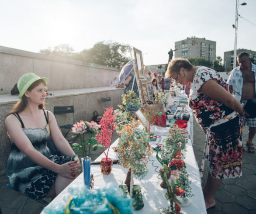
M 187 71 L 190 71 L 193 68 L 193 65 L 186 59 L 176 58 L 169 63 L 165 73 L 165 78 L 171 77 L 171 73 L 180 74 L 180 68 L 184 68 L 187 69 Z

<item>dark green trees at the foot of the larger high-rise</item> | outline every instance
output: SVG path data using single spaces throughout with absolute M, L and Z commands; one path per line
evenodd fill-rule
M 214 63 L 213 61 L 202 59 L 202 58 L 190 58 L 188 61 L 194 66 L 206 66 L 208 68 L 214 68 L 215 71 L 223 72 L 224 66 L 222 65 L 222 59 L 217 56 Z

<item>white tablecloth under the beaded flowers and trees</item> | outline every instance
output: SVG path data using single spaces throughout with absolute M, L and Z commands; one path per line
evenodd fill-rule
M 191 125 L 191 123 L 189 123 Z M 190 129 L 190 126 L 187 127 L 188 130 Z M 192 129 L 193 130 L 193 129 Z M 190 137 L 191 133 L 188 133 L 188 136 Z M 157 140 L 157 142 L 154 143 L 163 143 L 164 138 L 166 136 L 161 136 Z M 119 140 L 119 139 L 118 139 Z M 118 159 L 118 154 L 113 152 L 112 147 L 117 145 L 118 140 L 116 140 L 110 148 L 109 155 L 112 160 Z M 187 166 L 187 172 L 189 174 L 189 179 L 192 182 L 191 188 L 192 193 L 194 194 L 194 197 L 191 198 L 192 204 L 188 207 L 181 207 L 181 212 L 184 214 L 206 214 L 206 207 L 204 204 L 204 196 L 201 188 L 201 178 L 199 174 L 199 169 L 197 166 L 197 162 L 194 156 L 194 151 L 192 147 L 191 140 L 188 139 L 188 144 L 186 147 L 186 151 L 183 151 L 183 154 L 185 155 L 185 163 Z M 154 160 L 156 152 L 153 153 L 153 155 L 149 156 L 150 160 Z M 100 155 L 96 161 L 100 161 L 104 157 L 104 154 Z M 160 163 L 156 160 L 154 162 L 154 165 L 157 165 L 160 167 Z M 142 194 L 144 193 L 143 201 L 144 201 L 144 207 L 139 210 L 135 211 L 135 213 L 160 213 L 159 209 L 160 207 L 168 207 L 169 202 L 164 197 L 164 193 L 166 193 L 165 189 L 162 189 L 160 187 L 160 183 L 162 180 L 158 179 L 159 173 L 155 172 L 155 168 L 152 166 L 152 162 L 149 161 L 148 164 L 149 173 L 148 175 L 142 179 L 134 179 L 135 185 L 143 186 L 142 188 Z M 157 169 L 159 171 L 159 168 Z M 124 169 L 122 166 L 113 165 L 112 173 L 109 175 L 104 175 L 100 172 L 100 165 L 91 165 L 91 172 L 93 173 L 95 182 L 94 182 L 94 188 L 98 189 L 101 187 L 104 187 L 106 183 L 112 182 L 115 185 L 120 185 L 121 183 L 119 180 L 122 180 L 125 182 L 125 177 L 128 172 L 128 169 Z M 83 173 L 80 174 L 69 186 L 81 184 L 83 183 Z M 63 201 L 63 197 L 65 197 L 67 193 L 67 189 L 69 186 L 66 187 L 65 190 L 62 191 L 52 202 L 53 203 L 59 203 Z M 49 205 L 48 205 L 49 206 Z M 42 212 L 43 213 L 43 212 Z

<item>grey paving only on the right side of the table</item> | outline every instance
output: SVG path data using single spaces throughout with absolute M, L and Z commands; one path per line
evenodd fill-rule
M 246 140 L 248 127 L 243 128 L 242 178 L 226 179 L 215 195 L 216 207 L 209 214 L 256 214 L 256 153 L 248 153 Z M 204 151 L 205 134 L 194 120 L 194 153 L 200 166 Z M 256 138 L 253 139 L 256 146 Z M 202 186 L 208 176 L 208 162 L 205 162 Z

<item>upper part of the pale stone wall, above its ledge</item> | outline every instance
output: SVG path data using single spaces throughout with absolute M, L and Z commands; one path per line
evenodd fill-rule
M 50 79 L 48 90 L 109 86 L 119 70 L 0 46 L 0 94 L 10 93 L 25 73 Z

